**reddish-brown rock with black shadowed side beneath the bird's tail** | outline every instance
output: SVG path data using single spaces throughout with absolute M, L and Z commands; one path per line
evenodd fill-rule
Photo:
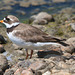
M 37 54 L 38 54 L 39 58 L 43 58 L 46 55 L 50 55 L 50 54 L 62 55 L 62 51 L 61 51 L 60 46 L 50 45 L 50 47 L 48 48 L 48 50 L 38 51 Z

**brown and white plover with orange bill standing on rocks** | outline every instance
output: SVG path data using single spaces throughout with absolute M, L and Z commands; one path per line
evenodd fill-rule
M 26 49 L 26 59 L 28 59 L 28 49 L 31 49 L 30 59 L 33 50 L 47 48 L 50 44 L 62 44 L 67 46 L 61 39 L 50 36 L 42 30 L 19 21 L 16 16 L 7 15 L 0 23 L 5 24 L 6 34 L 16 45 Z

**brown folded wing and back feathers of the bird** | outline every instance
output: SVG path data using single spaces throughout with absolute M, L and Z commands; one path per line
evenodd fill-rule
M 23 28 L 23 30 L 21 28 Z M 18 31 L 14 35 L 18 36 L 19 38 L 22 38 L 27 42 L 58 42 L 60 44 L 64 44 L 61 42 L 60 39 L 49 36 L 48 34 L 33 26 L 22 24 L 20 30 L 19 28 L 17 29 Z

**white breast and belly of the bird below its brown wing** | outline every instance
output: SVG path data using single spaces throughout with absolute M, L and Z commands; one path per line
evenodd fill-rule
M 31 43 L 31 42 L 26 42 L 25 40 L 22 40 L 21 38 L 18 38 L 16 36 L 13 35 L 13 32 L 10 32 L 9 34 L 7 33 L 9 39 L 15 43 L 18 46 L 21 46 L 23 48 L 30 48 L 30 47 L 41 47 L 41 46 L 45 46 L 45 45 L 60 45 L 58 43 L 52 43 L 52 42 L 37 42 L 37 43 Z

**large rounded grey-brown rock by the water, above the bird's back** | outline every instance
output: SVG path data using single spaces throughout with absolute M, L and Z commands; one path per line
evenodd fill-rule
M 29 23 L 44 25 L 51 21 L 55 21 L 52 15 L 46 12 L 40 12 L 37 15 L 31 16 Z

